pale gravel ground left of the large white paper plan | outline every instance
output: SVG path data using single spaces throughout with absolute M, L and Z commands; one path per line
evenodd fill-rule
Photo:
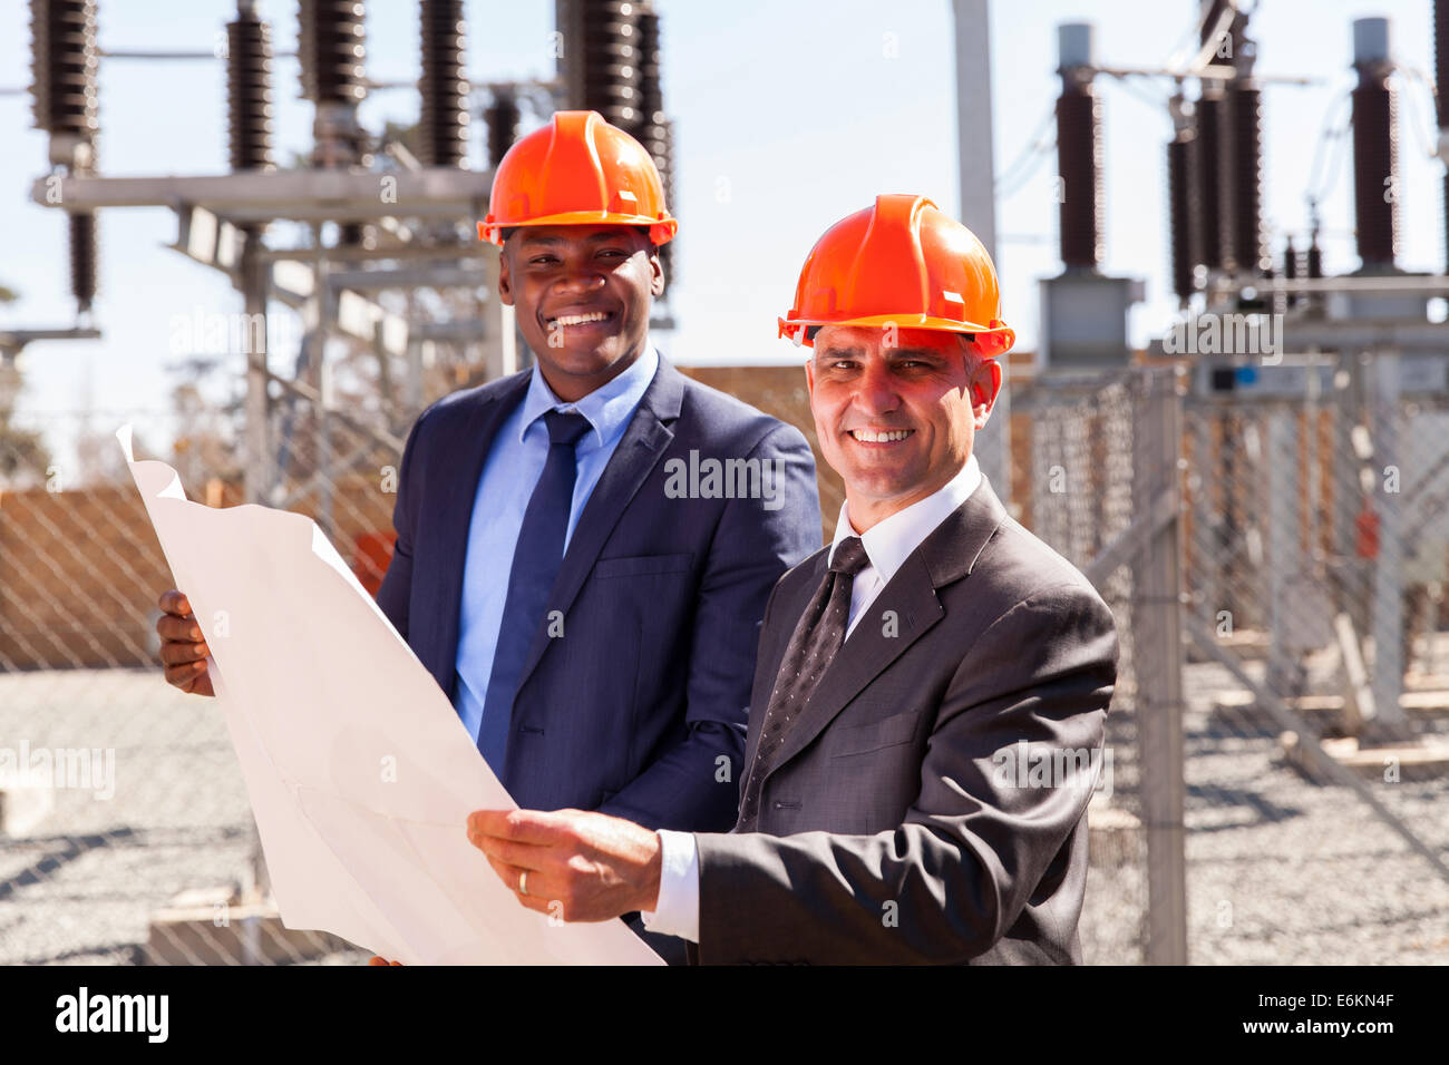
M 0 839 L 0 964 L 145 962 L 155 909 L 246 872 L 251 811 L 222 717 L 158 672 L 0 675 L 0 748 L 22 739 L 114 748 L 114 795 L 59 788 L 43 820 Z

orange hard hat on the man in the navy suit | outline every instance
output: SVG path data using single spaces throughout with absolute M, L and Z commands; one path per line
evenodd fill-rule
M 680 227 L 643 145 L 598 112 L 555 112 L 498 161 L 478 238 L 501 245 L 511 226 L 581 225 L 648 226 L 656 245 Z

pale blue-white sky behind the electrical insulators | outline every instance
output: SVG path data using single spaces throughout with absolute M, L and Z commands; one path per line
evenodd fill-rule
M 775 316 L 816 238 L 877 193 L 914 191 L 955 213 L 955 75 L 948 0 L 768 3 L 719 6 L 656 0 L 662 17 L 665 104 L 675 120 L 681 220 L 674 309 L 680 329 L 665 349 L 678 361 L 790 361 Z M 1164 64 L 1191 32 L 1195 0 L 993 0 L 995 168 L 1030 143 L 1058 93 L 1059 22 L 1097 25 L 1107 65 Z M 368 72 L 417 77 L 416 0 L 368 3 Z M 210 48 L 232 17 L 230 0 L 101 0 L 103 48 Z M 554 0 L 468 3 L 469 74 L 480 80 L 549 77 Z M 296 4 L 264 0 L 278 51 L 296 41 Z M 497 22 L 484 25 L 484 16 Z M 1391 19 L 1391 46 L 1407 68 L 1430 68 L 1429 0 L 1258 0 L 1253 36 L 1261 74 L 1307 75 L 1311 87 L 1265 93 L 1265 216 L 1274 248 L 1307 226 L 1304 188 L 1326 119 L 1353 84 L 1355 17 Z M 0 0 L 0 88 L 29 80 L 29 10 Z M 887 48 L 887 35 L 893 48 Z M 890 54 L 894 52 L 894 54 Z M 226 170 L 226 100 L 220 62 L 106 61 L 100 158 L 109 174 L 214 174 Z M 1175 312 L 1168 283 L 1164 81 L 1100 83 L 1106 103 L 1107 256 L 1111 274 L 1142 277 L 1148 303 L 1133 313 L 1143 343 Z M 1410 270 L 1443 268 L 1442 165 L 1427 156 L 1433 103 L 1423 83 L 1403 81 L 1400 168 L 1403 255 Z M 304 151 L 310 104 L 297 99 L 294 59 L 274 81 L 278 145 Z M 380 91 L 362 119 L 416 116 L 416 93 Z M 1346 110 L 1339 109 L 1339 125 Z M 481 125 L 475 126 L 481 132 Z M 65 226 L 29 200 L 45 171 L 45 138 L 30 129 L 28 94 L 0 96 L 0 283 L 23 300 L 0 310 L 0 326 L 70 322 Z M 1323 201 L 1326 265 L 1352 270 L 1350 159 L 1340 149 Z M 481 146 L 474 138 L 475 165 Z M 1321 170 L 1321 167 L 1320 167 Z M 1056 203 L 1048 154 L 1030 180 L 997 206 L 1003 316 L 1035 346 L 1037 280 L 1058 272 Z M 1320 184 L 1323 178 L 1320 177 Z M 727 190 L 727 196 L 723 191 Z M 174 238 L 168 210 L 110 210 L 101 217 L 100 342 L 33 345 L 25 409 L 43 419 L 93 403 L 113 412 L 161 412 L 171 316 L 239 310 L 219 277 L 161 245 Z M 296 333 L 296 330 L 293 330 Z M 290 362 L 291 354 L 287 352 Z M 114 420 L 114 419 L 112 419 Z M 109 423 L 107 423 L 109 425 Z

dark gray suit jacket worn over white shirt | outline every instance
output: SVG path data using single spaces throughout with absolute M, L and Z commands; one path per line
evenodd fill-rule
M 771 594 L 746 767 L 826 564 L 811 555 Z M 696 836 L 696 959 L 1080 964 L 1085 811 L 1116 675 L 1107 604 L 982 478 L 761 768 L 758 826 Z

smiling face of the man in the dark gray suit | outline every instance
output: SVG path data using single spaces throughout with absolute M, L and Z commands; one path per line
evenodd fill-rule
M 823 326 L 806 380 L 820 451 L 865 532 L 961 472 L 1001 367 L 968 352 L 959 333 Z

